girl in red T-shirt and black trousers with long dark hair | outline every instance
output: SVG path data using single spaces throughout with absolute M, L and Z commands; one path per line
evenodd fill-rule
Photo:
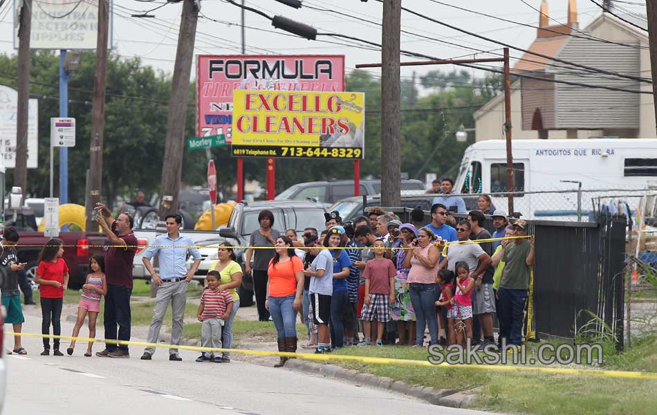
M 62 259 L 64 247 L 62 241 L 50 239 L 39 254 L 35 282 L 39 284 L 41 295 L 41 333 L 50 334 L 50 322 L 53 322 L 53 334 L 62 334 L 59 320 L 62 317 L 64 290 L 68 286 L 68 266 Z M 54 339 L 54 356 L 64 356 L 59 351 L 59 339 Z M 41 356 L 50 354 L 50 339 L 44 338 L 44 351 Z

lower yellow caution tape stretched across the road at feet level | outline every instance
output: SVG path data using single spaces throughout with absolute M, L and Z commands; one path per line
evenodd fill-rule
M 503 366 L 503 365 L 452 365 L 450 363 L 441 363 L 434 365 L 428 360 L 407 360 L 396 358 L 371 358 L 367 356 L 348 356 L 348 355 L 332 355 L 332 354 L 315 354 L 315 353 L 291 353 L 286 351 L 258 351 L 258 350 L 244 350 L 244 349 L 221 349 L 217 347 L 198 347 L 198 346 L 185 346 L 176 344 L 162 344 L 162 343 L 147 343 L 147 342 L 133 342 L 125 340 L 109 340 L 109 339 L 94 339 L 83 337 L 72 337 L 68 335 L 52 335 L 52 334 L 37 334 L 37 333 L 14 333 L 6 331 L 5 335 L 19 335 L 22 337 L 33 338 L 53 338 L 62 340 L 75 340 L 76 342 L 106 342 L 111 344 L 119 344 L 122 346 L 141 346 L 141 347 L 154 347 L 161 349 L 181 349 L 191 351 L 206 351 L 206 352 L 223 352 L 223 353 L 241 353 L 252 356 L 272 356 L 272 357 L 285 357 L 285 358 L 298 358 L 302 360 L 313 360 L 317 362 L 331 362 L 331 361 L 344 361 L 344 362 L 359 362 L 371 363 L 373 365 L 400 365 L 400 366 L 420 366 L 420 367 L 458 367 L 461 369 L 483 369 L 493 371 L 530 371 L 544 374 L 561 374 L 561 375 L 584 375 L 584 376 L 601 376 L 606 378 L 626 378 L 626 379 L 656 379 L 657 373 L 651 372 L 637 372 L 637 371 L 616 371 L 616 370 L 596 370 L 596 369 L 566 369 L 557 367 L 529 367 L 529 366 Z

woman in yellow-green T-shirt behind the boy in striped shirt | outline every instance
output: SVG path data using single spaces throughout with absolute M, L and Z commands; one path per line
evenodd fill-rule
M 219 286 L 216 288 L 217 291 L 221 293 L 223 290 L 228 290 L 230 296 L 232 297 L 232 310 L 230 315 L 228 315 L 228 320 L 225 320 L 223 324 L 223 330 L 221 332 L 221 343 L 224 349 L 230 349 L 232 347 L 232 323 L 235 320 L 235 315 L 237 315 L 237 310 L 239 309 L 239 295 L 237 295 L 237 287 L 242 284 L 242 268 L 237 264 L 237 257 L 235 257 L 235 252 L 233 251 L 232 246 L 228 243 L 222 242 L 219 244 L 219 249 L 217 250 L 217 257 L 219 261 L 216 261 L 212 266 L 210 266 L 210 271 L 217 271 L 221 276 L 221 281 Z M 217 358 L 214 359 L 216 362 Z M 221 362 L 228 363 L 230 362 L 230 353 L 224 352 L 221 356 Z

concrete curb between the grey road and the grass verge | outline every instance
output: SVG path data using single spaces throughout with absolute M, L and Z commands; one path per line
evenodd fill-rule
M 322 365 L 320 363 L 308 362 L 302 359 L 288 360 L 285 364 L 285 368 L 304 374 L 319 374 L 320 376 L 329 379 L 348 380 L 349 382 L 355 382 L 357 385 L 396 391 L 400 394 L 426 400 L 432 405 L 454 408 L 464 408 L 471 405 L 482 389 L 479 387 L 466 391 L 455 391 L 454 389 L 434 389 L 432 387 L 411 386 L 400 380 L 363 374 L 355 370 L 344 369 L 335 365 Z

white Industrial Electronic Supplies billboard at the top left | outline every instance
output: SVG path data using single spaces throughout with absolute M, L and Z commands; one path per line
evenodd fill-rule
M 14 48 L 18 48 L 21 0 L 14 0 Z M 112 2 L 109 42 L 112 46 Z M 95 49 L 98 39 L 98 0 L 32 0 L 31 49 Z

